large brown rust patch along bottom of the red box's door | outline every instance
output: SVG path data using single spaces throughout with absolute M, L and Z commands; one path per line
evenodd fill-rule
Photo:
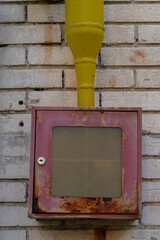
M 103 198 L 64 198 L 59 202 L 59 208 L 68 213 L 134 213 L 137 209 L 137 181 L 129 199 L 125 193 L 107 202 Z

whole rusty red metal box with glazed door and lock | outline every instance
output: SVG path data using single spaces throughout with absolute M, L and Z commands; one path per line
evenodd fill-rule
M 141 109 L 32 109 L 29 216 L 141 217 Z

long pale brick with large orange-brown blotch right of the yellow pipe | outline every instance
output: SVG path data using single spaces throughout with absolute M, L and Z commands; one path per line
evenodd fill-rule
M 101 49 L 105 66 L 157 66 L 160 62 L 160 47 L 105 47 Z

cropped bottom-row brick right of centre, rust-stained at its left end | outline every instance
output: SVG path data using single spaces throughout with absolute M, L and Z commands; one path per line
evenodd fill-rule
M 158 240 L 160 236 L 159 230 L 118 230 L 107 231 L 106 240 Z

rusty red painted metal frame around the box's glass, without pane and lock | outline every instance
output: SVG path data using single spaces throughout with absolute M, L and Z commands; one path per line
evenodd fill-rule
M 122 128 L 122 195 L 120 198 L 104 201 L 103 198 L 51 196 L 51 135 L 54 126 Z M 47 162 L 44 166 L 37 164 L 36 159 L 39 156 L 46 157 Z M 141 156 L 141 108 L 33 107 L 29 217 L 36 219 L 141 218 Z

